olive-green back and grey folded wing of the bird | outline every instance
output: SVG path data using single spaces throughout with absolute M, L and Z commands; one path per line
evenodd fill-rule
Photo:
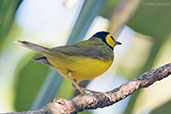
M 101 39 L 89 39 L 74 45 L 60 46 L 52 49 L 70 56 L 90 57 L 103 60 L 111 59 L 114 56 L 113 51 L 106 46 Z

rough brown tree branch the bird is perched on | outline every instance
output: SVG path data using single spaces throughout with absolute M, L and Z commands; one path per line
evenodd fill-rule
M 140 88 L 149 87 L 154 82 L 168 77 L 171 74 L 171 63 L 140 75 L 120 87 L 94 95 L 78 95 L 70 100 L 56 98 L 37 111 L 14 112 L 10 114 L 76 114 L 86 109 L 103 108 L 112 105 Z M 109 96 L 107 97 L 106 94 Z M 5 113 L 4 113 L 5 114 Z M 8 113 L 9 114 L 9 113 Z

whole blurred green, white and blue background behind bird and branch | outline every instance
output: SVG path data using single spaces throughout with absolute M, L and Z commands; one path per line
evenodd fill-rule
M 16 40 L 54 47 L 104 30 L 122 45 L 111 68 L 82 86 L 109 91 L 171 62 L 170 0 L 0 0 L 0 113 L 35 110 L 77 94 L 54 68 L 32 61 L 40 55 Z M 79 114 L 168 114 L 170 107 L 168 77 L 112 106 Z

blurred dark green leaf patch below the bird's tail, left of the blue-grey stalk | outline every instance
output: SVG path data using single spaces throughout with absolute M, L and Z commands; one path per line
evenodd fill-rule
M 23 65 L 25 60 L 28 63 Z M 23 66 L 23 67 L 21 67 Z M 15 76 L 14 107 L 17 111 L 28 110 L 48 73 L 48 66 L 36 63 L 25 56 L 18 64 Z

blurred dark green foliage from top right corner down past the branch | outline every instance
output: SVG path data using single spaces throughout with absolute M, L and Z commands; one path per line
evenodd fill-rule
M 150 55 L 148 56 L 144 66 L 142 66 L 141 69 L 138 69 L 139 72 L 136 76 L 150 70 L 153 67 L 156 55 L 171 33 L 171 23 L 169 23 L 171 20 L 171 6 L 159 6 L 159 3 L 169 3 L 169 1 L 142 1 L 140 7 L 136 10 L 135 14 L 128 22 L 128 26 L 137 32 L 151 36 L 153 40 L 153 46 L 150 50 Z M 154 6 L 152 4 L 154 4 Z M 133 110 L 139 93 L 140 92 L 136 92 L 134 95 L 132 95 L 125 114 L 132 113 L 131 111 Z

